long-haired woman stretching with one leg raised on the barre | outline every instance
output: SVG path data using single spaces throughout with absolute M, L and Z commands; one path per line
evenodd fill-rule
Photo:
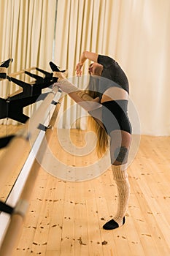
M 82 75 L 82 66 L 86 59 L 93 61 L 89 67 L 90 83 L 87 90 L 80 91 L 62 74 L 58 74 L 59 83 L 56 83 L 56 86 L 68 93 L 96 120 L 98 153 L 104 152 L 108 141 L 110 142 L 110 158 L 113 178 L 117 185 L 118 203 L 115 217 L 103 228 L 112 230 L 125 223 L 130 195 L 127 173 L 128 151 L 131 145 L 131 124 L 127 113 L 128 79 L 114 59 L 88 51 L 84 51 L 80 56 L 76 66 L 77 75 Z

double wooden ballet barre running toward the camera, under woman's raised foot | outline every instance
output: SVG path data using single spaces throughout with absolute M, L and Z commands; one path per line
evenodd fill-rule
M 20 162 L 24 148 L 31 144 L 31 151 L 28 154 L 15 186 L 10 192 L 7 205 L 12 207 L 12 214 L 0 213 L 0 255 L 12 255 L 13 249 L 18 241 L 19 230 L 23 225 L 24 217 L 28 209 L 28 200 L 34 187 L 36 176 L 39 172 L 38 159 L 42 159 L 46 149 L 45 141 L 49 141 L 53 134 L 53 127 L 60 105 L 58 100 L 62 100 L 62 91 L 55 86 L 43 100 L 42 104 L 23 124 L 23 127 L 12 138 L 7 150 L 0 159 L 0 192 L 7 181 L 7 177 L 14 171 L 14 167 Z M 51 116 L 49 121 L 49 115 Z M 39 150 L 41 148 L 41 150 Z M 23 183 L 23 187 L 20 183 Z M 13 192 L 14 195 L 11 195 Z M 18 195 L 16 195 L 18 194 Z M 4 224 L 5 223 L 5 224 Z

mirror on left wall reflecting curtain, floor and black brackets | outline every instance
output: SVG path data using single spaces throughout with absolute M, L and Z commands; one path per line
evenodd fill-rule
M 55 0 L 0 1 L 1 143 L 22 129 L 51 90 L 53 72 L 49 62 L 53 60 L 56 8 Z M 7 60 L 9 65 L 4 67 Z M 0 188 L 0 200 L 5 202 L 9 197 L 30 150 L 30 146 L 24 149 L 20 164 Z M 6 151 L 7 147 L 0 145 L 0 157 Z

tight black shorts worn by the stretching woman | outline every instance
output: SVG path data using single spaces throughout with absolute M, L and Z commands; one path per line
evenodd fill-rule
M 107 134 L 115 129 L 131 134 L 131 123 L 128 119 L 128 100 L 112 100 L 102 104 L 102 123 Z

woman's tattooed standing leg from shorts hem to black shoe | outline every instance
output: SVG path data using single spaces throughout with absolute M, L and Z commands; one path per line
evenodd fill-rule
M 117 185 L 117 211 L 115 217 L 107 222 L 103 228 L 112 230 L 125 223 L 125 213 L 128 208 L 130 185 L 128 182 L 127 161 L 131 135 L 128 132 L 114 131 L 111 133 L 110 154 L 112 173 Z

